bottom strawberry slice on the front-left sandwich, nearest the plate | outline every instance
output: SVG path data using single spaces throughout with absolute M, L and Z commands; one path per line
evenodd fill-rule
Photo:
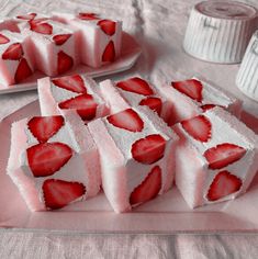
M 86 187 L 80 182 L 68 182 L 47 179 L 42 185 L 45 205 L 48 209 L 61 209 L 86 193 Z

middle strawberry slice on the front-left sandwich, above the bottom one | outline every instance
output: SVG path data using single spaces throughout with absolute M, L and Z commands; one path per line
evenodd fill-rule
M 40 143 L 27 148 L 26 155 L 34 177 L 48 177 L 69 161 L 72 150 L 64 143 Z

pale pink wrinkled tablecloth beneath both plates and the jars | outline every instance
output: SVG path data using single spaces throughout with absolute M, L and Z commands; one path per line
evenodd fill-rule
M 135 74 L 154 82 L 193 75 L 214 81 L 244 100 L 258 117 L 258 104 L 235 87 L 238 65 L 212 65 L 190 58 L 181 41 L 190 8 L 199 0 L 0 0 L 0 14 L 77 10 L 106 13 L 143 46 L 137 65 L 115 79 Z M 245 2 L 258 7 L 257 0 Z M 225 72 L 226 71 L 226 72 Z M 36 91 L 0 95 L 0 120 L 37 98 Z M 254 117 L 246 123 L 254 121 Z M 255 128 L 258 130 L 258 128 Z M 258 258 L 258 236 L 224 235 L 67 235 L 0 229 L 0 258 Z

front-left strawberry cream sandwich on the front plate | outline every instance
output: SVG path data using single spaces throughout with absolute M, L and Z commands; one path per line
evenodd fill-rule
M 79 115 L 13 123 L 8 174 L 31 211 L 61 209 L 100 190 L 97 146 Z

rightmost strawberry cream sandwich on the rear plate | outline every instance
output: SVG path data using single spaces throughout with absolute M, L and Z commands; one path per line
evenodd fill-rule
M 114 61 L 121 53 L 122 22 L 101 18 L 97 13 L 54 13 L 54 20 L 79 30 L 81 61 L 100 67 Z

